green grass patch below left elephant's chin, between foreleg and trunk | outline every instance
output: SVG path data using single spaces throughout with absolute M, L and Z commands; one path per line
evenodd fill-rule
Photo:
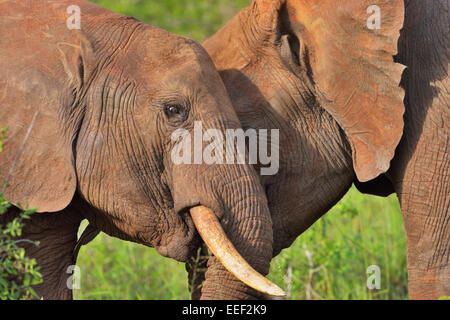
M 155 249 L 100 234 L 80 250 L 75 299 L 189 299 L 184 264 Z

